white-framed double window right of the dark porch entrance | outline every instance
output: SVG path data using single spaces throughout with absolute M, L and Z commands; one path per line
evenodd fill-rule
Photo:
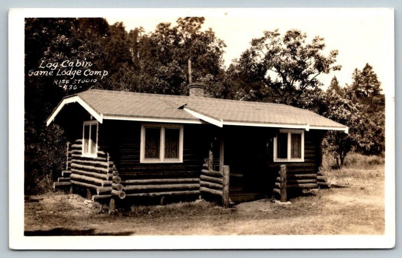
M 274 162 L 303 162 L 304 130 L 280 129 L 273 140 Z

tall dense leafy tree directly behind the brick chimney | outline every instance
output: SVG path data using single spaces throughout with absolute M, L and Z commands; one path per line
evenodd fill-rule
M 220 96 L 226 45 L 212 29 L 201 31 L 204 21 L 203 17 L 186 17 L 179 18 L 173 27 L 161 23 L 155 32 L 142 36 L 134 44 L 133 49 L 138 50 L 139 77 L 147 83 L 140 86 L 140 91 L 187 94 L 190 59 L 193 81 L 205 82 L 207 95 Z

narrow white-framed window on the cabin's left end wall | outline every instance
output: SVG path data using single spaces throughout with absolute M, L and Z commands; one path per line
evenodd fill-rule
M 96 158 L 97 121 L 84 121 L 82 129 L 82 156 Z

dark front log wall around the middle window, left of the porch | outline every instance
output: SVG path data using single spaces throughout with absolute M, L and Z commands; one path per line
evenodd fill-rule
M 99 145 L 113 156 L 127 197 L 200 194 L 200 155 L 204 146 L 199 125 L 184 124 L 182 163 L 141 163 L 140 122 L 105 121 Z M 207 146 L 205 146 L 207 148 Z

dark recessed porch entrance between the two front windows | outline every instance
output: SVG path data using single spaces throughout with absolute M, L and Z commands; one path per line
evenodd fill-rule
M 225 126 L 213 135 L 207 159 L 212 162 L 205 167 L 218 173 L 224 172 L 224 165 L 229 168 L 230 202 L 272 196 L 275 178 L 268 169 L 269 135 L 267 128 L 246 126 Z

